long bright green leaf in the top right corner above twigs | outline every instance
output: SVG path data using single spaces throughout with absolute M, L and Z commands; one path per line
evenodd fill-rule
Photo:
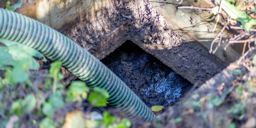
M 220 4 L 220 0 L 215 0 Z M 249 31 L 254 25 L 256 25 L 256 19 L 252 19 L 251 16 L 248 16 L 246 12 L 239 10 L 235 5 L 223 1 L 222 9 L 230 16 L 230 18 L 241 22 L 242 28 L 245 28 L 246 31 Z

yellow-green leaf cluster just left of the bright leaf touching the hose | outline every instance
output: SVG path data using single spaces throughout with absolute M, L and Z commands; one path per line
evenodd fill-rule
M 83 99 L 87 98 L 87 92 L 89 92 L 89 88 L 84 82 L 74 81 L 68 86 L 66 101 L 82 102 Z

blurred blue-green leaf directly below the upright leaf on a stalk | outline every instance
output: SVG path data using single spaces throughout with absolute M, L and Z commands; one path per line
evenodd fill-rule
M 56 93 L 52 93 L 52 95 L 49 97 L 48 103 L 55 108 L 63 107 L 65 105 L 63 97 L 59 90 L 57 90 Z

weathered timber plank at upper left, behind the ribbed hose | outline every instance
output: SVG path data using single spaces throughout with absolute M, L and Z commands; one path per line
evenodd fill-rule
M 34 0 L 17 12 L 65 33 L 77 22 L 94 20 L 109 3 L 110 0 Z

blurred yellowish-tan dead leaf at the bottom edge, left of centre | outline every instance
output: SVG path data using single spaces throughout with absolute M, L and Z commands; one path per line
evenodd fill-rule
M 66 114 L 65 124 L 62 128 L 95 128 L 96 124 L 93 119 L 84 117 L 82 111 L 72 111 Z

